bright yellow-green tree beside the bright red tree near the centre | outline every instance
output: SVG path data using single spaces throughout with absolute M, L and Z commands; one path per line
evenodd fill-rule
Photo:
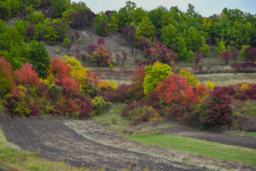
M 143 83 L 144 93 L 147 95 L 152 90 L 155 91 L 157 83 L 168 78 L 170 75 L 170 66 L 162 64 L 160 62 L 154 63 L 154 65 L 145 67 L 146 76 Z

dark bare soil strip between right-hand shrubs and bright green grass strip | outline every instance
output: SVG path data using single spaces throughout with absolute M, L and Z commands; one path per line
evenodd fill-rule
M 256 138 L 253 137 L 242 137 L 242 136 L 229 136 L 214 133 L 204 133 L 193 131 L 181 127 L 164 127 L 158 129 L 161 132 L 167 133 L 169 135 L 190 137 L 193 139 L 211 141 L 214 143 L 221 143 L 227 145 L 242 146 L 245 148 L 256 149 Z

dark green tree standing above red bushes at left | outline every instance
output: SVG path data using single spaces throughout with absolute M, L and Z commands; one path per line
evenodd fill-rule
M 46 51 L 44 42 L 32 40 L 29 44 L 29 60 L 35 72 L 38 72 L 40 78 L 46 78 L 51 57 Z

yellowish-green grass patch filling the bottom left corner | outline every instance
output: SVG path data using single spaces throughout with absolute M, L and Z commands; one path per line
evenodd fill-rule
M 63 162 L 42 160 L 38 153 L 20 150 L 9 143 L 0 127 L 0 168 L 5 170 L 91 170 L 75 168 Z M 100 169 L 100 170 L 105 170 Z

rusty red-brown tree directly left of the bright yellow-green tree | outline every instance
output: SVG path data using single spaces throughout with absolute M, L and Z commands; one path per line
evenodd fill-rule
M 131 89 L 133 92 L 133 97 L 135 97 L 135 99 L 137 100 L 141 99 L 141 97 L 144 97 L 143 83 L 144 83 L 145 76 L 146 76 L 145 66 L 143 66 L 141 68 L 136 67 L 136 70 L 133 72 L 132 76 L 130 77 L 130 79 L 132 80 Z

